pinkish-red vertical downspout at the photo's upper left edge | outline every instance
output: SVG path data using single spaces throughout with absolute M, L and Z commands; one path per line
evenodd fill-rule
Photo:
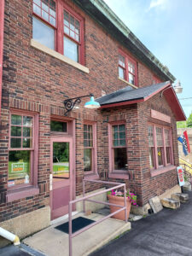
M 0 116 L 2 107 L 2 84 L 3 84 L 3 33 L 4 33 L 4 0 L 0 1 Z

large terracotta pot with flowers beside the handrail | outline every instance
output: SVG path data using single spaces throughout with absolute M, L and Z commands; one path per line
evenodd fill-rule
M 108 200 L 109 203 L 119 205 L 124 207 L 124 192 L 119 190 L 112 190 L 108 192 Z M 130 216 L 131 204 L 137 206 L 137 195 L 130 193 L 130 191 L 126 191 L 126 209 L 127 209 L 127 219 Z M 116 212 L 119 210 L 120 207 L 113 207 L 110 206 L 111 213 Z M 125 220 L 125 211 L 118 212 L 112 216 L 112 218 L 117 218 L 120 220 Z

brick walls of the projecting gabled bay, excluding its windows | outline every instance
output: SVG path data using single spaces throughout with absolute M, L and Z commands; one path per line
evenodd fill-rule
M 157 119 L 152 119 L 150 117 L 151 109 L 171 116 L 172 123 L 168 124 Z M 100 130 L 102 130 L 102 140 L 98 140 L 98 168 L 99 172 L 103 170 L 107 173 L 107 177 L 109 161 L 108 121 L 116 120 L 125 120 L 127 131 L 127 159 L 130 179 L 127 181 L 122 180 L 122 182 L 127 184 L 131 192 L 137 194 L 138 204 L 143 206 L 148 202 L 149 198 L 155 195 L 161 195 L 166 189 L 171 189 L 173 186 L 177 185 L 177 171 L 174 167 L 172 171 L 151 177 L 148 158 L 148 122 L 152 122 L 154 124 L 172 127 L 173 158 L 175 166 L 178 166 L 175 117 L 164 96 L 161 98 L 160 94 L 152 97 L 148 102 L 132 105 L 132 107 L 104 110 L 101 123 L 98 125 L 98 127 L 101 125 L 102 128 L 100 128 Z M 105 158 L 102 157 L 103 155 L 105 155 Z M 120 181 L 119 179 L 112 178 L 109 180 Z

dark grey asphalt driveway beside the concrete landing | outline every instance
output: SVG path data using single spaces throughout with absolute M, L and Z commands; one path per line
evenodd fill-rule
M 101 230 L 102 231 L 102 230 Z M 131 223 L 131 231 L 90 256 L 192 256 L 192 192 L 177 210 L 161 212 Z

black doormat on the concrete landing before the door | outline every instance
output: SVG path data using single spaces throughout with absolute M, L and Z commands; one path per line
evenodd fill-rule
M 84 227 L 86 227 L 89 224 L 92 224 L 94 222 L 95 222 L 94 220 L 91 220 L 89 218 L 83 218 L 83 217 L 74 218 L 72 220 L 72 233 L 75 233 L 76 231 L 81 230 Z M 61 230 L 62 232 L 65 232 L 68 234 L 68 222 L 61 224 L 59 226 L 56 226 L 55 229 Z

